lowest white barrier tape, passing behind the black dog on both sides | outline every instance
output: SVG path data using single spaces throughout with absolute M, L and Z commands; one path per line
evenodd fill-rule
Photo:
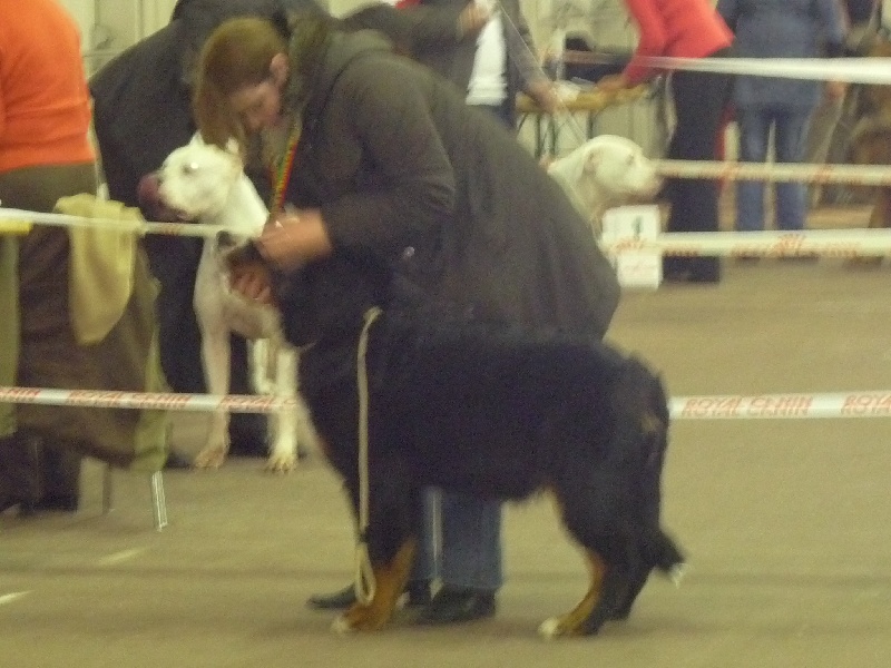
M 293 399 L 248 394 L 164 394 L 102 390 L 0 387 L 0 403 L 96 409 L 229 411 L 272 413 Z M 833 394 L 677 396 L 668 402 L 673 420 L 758 420 L 801 418 L 889 418 L 891 390 Z

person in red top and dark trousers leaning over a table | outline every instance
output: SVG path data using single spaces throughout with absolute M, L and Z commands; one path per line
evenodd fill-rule
M 639 42 L 619 75 L 605 77 L 598 88 L 617 90 L 636 86 L 662 73 L 650 57 L 717 58 L 730 55 L 733 32 L 711 0 L 625 0 L 637 24 Z M 666 157 L 677 160 L 714 160 L 718 129 L 727 104 L 728 75 L 677 70 L 670 72 L 675 130 Z M 716 232 L 718 184 L 714 180 L 675 179 L 667 184 L 672 202 L 668 232 Z M 666 257 L 666 281 L 716 283 L 721 279 L 717 257 Z

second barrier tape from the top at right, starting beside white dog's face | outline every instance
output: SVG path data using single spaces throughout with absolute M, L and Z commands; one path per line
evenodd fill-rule
M 789 163 L 654 160 L 659 176 L 722 180 L 772 180 L 854 186 L 891 186 L 891 167 Z

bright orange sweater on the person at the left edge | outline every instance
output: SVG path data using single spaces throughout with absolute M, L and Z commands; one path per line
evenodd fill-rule
M 0 174 L 95 158 L 77 24 L 56 0 L 0 0 Z

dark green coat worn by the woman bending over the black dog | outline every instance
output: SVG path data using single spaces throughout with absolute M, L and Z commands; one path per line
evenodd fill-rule
M 298 343 L 385 299 L 393 269 L 467 311 L 604 335 L 613 268 L 510 131 L 370 33 L 292 53 L 294 68 L 312 61 L 287 200 L 321 207 L 336 249 L 294 276 Z

